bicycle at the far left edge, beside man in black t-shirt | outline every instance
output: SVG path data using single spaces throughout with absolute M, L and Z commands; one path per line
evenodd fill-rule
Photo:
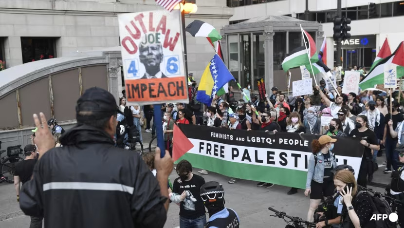
M 19 154 L 23 153 L 23 150 L 21 149 L 21 145 L 7 147 L 7 150 L 0 151 L 0 156 L 4 152 L 7 152 L 7 155 L 2 157 L 0 160 L 0 183 L 14 183 L 14 173 L 16 171 L 16 165 L 18 164 L 18 162 L 24 160 L 22 157 L 19 156 Z

